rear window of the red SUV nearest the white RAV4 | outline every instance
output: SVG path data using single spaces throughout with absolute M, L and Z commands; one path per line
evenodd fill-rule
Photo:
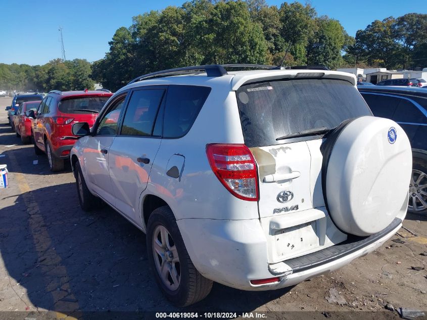
M 58 109 L 63 113 L 99 113 L 110 97 L 84 97 L 61 100 Z

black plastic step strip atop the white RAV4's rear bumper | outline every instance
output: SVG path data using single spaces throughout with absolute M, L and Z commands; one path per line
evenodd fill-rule
M 288 264 L 292 268 L 293 273 L 311 269 L 319 265 L 340 259 L 348 254 L 363 249 L 364 247 L 375 242 L 376 240 L 383 238 L 394 228 L 396 228 L 400 223 L 402 223 L 402 220 L 399 218 L 395 218 L 392 223 L 390 223 L 384 230 L 380 231 L 375 235 L 369 237 L 354 236 L 351 237 L 349 240 L 343 242 L 342 244 L 316 251 L 305 256 L 289 259 L 283 262 Z

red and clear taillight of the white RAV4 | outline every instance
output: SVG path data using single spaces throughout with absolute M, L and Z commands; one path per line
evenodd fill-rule
M 258 201 L 257 168 L 247 146 L 210 144 L 206 154 L 212 171 L 233 196 Z

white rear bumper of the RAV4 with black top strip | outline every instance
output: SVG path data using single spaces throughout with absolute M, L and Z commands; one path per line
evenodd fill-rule
M 204 277 L 237 289 L 262 291 L 293 286 L 341 268 L 381 246 L 399 230 L 402 220 L 396 218 L 370 237 L 274 264 L 268 263 L 267 240 L 258 219 L 180 219 L 177 223 L 188 254 Z M 273 277 L 279 281 L 258 286 L 250 282 Z

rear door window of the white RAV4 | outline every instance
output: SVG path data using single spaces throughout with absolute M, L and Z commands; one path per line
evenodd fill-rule
M 164 89 L 136 90 L 132 93 L 123 120 L 121 135 L 152 135 Z

